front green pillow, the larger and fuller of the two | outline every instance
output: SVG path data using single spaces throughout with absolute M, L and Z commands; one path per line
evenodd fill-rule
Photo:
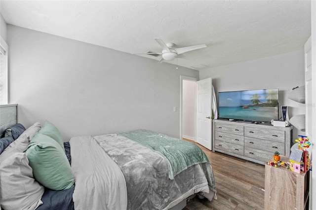
M 52 190 L 69 189 L 74 175 L 65 152 L 52 138 L 36 134 L 26 151 L 35 179 Z

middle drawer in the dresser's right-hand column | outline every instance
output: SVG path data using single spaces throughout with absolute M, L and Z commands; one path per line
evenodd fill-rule
M 260 149 L 267 152 L 275 152 L 278 151 L 280 155 L 285 155 L 285 148 L 284 143 L 271 141 L 271 140 L 262 140 L 262 139 L 255 139 L 251 137 L 245 137 L 244 139 L 245 147 Z

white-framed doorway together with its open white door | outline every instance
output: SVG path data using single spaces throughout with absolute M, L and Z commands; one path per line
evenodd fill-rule
M 212 150 L 212 78 L 180 76 L 180 139 Z

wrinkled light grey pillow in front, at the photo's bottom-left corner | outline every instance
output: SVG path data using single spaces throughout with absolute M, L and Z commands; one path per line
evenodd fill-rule
M 42 204 L 43 193 L 25 153 L 14 153 L 0 162 L 1 208 L 35 210 Z

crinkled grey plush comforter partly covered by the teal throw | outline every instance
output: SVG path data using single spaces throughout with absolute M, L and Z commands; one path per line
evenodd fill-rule
M 118 134 L 96 136 L 93 140 L 122 171 L 128 210 L 169 209 L 194 193 L 203 192 L 207 197 L 210 190 L 216 192 L 209 163 L 191 166 L 169 179 L 167 161 L 157 152 Z

